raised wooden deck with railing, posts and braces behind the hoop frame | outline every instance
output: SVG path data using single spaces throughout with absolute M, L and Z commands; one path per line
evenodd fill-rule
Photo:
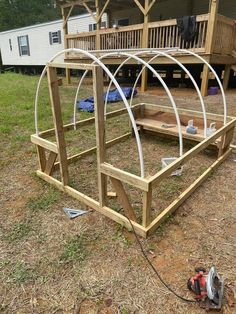
M 192 49 L 201 54 L 210 64 L 225 65 L 224 87 L 228 86 L 230 69 L 236 63 L 236 28 L 233 19 L 218 14 L 220 0 L 210 0 L 209 12 L 197 16 L 198 35 L 191 43 L 182 40 L 176 19 L 150 22 L 149 16 L 158 0 L 58 0 L 62 8 L 64 19 L 65 48 L 81 48 L 90 51 L 137 48 L 166 48 L 179 47 Z M 69 34 L 67 21 L 74 7 L 82 7 L 94 18 L 97 29 L 87 33 Z M 119 28 L 101 29 L 100 22 L 104 12 L 120 10 L 121 8 L 138 7 L 143 15 L 143 23 Z M 96 12 L 94 15 L 93 12 Z M 95 54 L 101 55 L 100 53 Z M 195 64 L 196 59 L 191 56 L 181 56 L 182 63 Z M 73 53 L 66 54 L 67 62 L 83 62 L 81 57 Z M 88 60 L 84 60 L 88 62 Z M 106 64 L 119 64 L 121 58 L 107 58 Z M 158 59 L 158 64 L 169 63 L 165 58 Z M 199 60 L 198 60 L 199 62 Z M 204 66 L 202 73 L 201 92 L 207 94 L 209 69 Z M 67 73 L 70 81 L 69 72 Z M 147 71 L 142 75 L 142 90 L 147 88 Z

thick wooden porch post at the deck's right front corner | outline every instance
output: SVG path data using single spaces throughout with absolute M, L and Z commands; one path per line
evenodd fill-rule
M 215 31 L 216 31 L 216 23 L 217 23 L 217 14 L 218 14 L 219 0 L 211 0 L 209 9 L 210 15 L 207 26 L 207 42 L 206 42 L 206 53 L 212 54 L 215 44 Z M 202 75 L 202 85 L 201 85 L 201 93 L 202 96 L 207 95 L 208 89 L 208 81 L 209 81 L 209 69 L 204 65 L 203 75 Z

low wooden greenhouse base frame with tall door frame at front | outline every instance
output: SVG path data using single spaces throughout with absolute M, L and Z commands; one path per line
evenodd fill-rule
M 207 179 L 209 174 L 221 164 L 230 154 L 231 148 L 230 143 L 233 139 L 233 132 L 236 124 L 236 119 L 233 117 L 227 117 L 227 124 L 223 125 L 223 117 L 221 115 L 207 114 L 208 121 L 216 121 L 217 131 L 211 136 L 204 138 L 203 135 L 187 136 L 186 138 L 195 140 L 199 142 L 192 149 L 187 151 L 182 157 L 177 158 L 175 162 L 162 169 L 155 175 L 151 177 L 139 177 L 137 175 L 131 174 L 127 171 L 123 171 L 116 168 L 106 162 L 106 148 L 114 145 L 128 136 L 130 133 L 126 133 L 118 138 L 115 138 L 109 142 L 106 141 L 105 133 L 105 121 L 104 121 L 104 100 L 103 100 L 103 72 L 102 69 L 97 65 L 81 65 L 81 69 L 88 69 L 92 71 L 93 74 L 93 93 L 95 98 L 95 117 L 77 122 L 80 127 L 86 125 L 93 125 L 95 123 L 96 127 L 96 147 L 92 147 L 80 154 L 68 157 L 66 150 L 66 142 L 64 133 L 66 131 L 73 129 L 73 124 L 63 125 L 61 116 L 61 106 L 59 97 L 59 87 L 58 79 L 56 75 L 57 67 L 65 68 L 80 68 L 79 64 L 58 64 L 50 63 L 48 65 L 48 85 L 50 92 L 50 99 L 53 112 L 54 129 L 50 129 L 39 134 L 34 134 L 31 136 L 32 142 L 37 146 L 38 159 L 39 159 L 39 170 L 37 174 L 39 177 L 45 181 L 53 184 L 60 190 L 66 192 L 72 197 L 78 199 L 80 202 L 84 203 L 86 206 L 92 207 L 98 212 L 104 214 L 105 216 L 111 218 L 117 223 L 122 224 L 128 229 L 131 229 L 129 219 L 132 220 L 132 224 L 136 232 L 143 237 L 147 237 L 149 234 L 155 231 L 155 229 L 171 214 L 173 213 L 194 191 L 198 188 L 201 183 Z M 132 107 L 137 125 L 140 125 L 143 130 L 151 130 L 158 133 L 164 133 L 166 136 L 178 136 L 177 132 L 167 132 L 161 130 L 158 122 L 158 115 L 160 112 L 164 114 L 173 115 L 173 110 L 170 107 L 157 106 L 153 104 L 140 103 Z M 127 114 L 126 109 L 116 110 L 107 114 L 106 118 L 110 119 L 119 115 Z M 182 121 L 187 119 L 194 119 L 202 127 L 202 113 L 197 111 L 191 111 L 186 109 L 180 109 L 179 114 Z M 156 121 L 150 127 L 147 123 L 147 119 Z M 185 120 L 184 120 L 185 119 Z M 56 143 L 53 143 L 47 139 L 47 137 L 55 134 Z M 218 156 L 215 162 L 196 179 L 184 192 L 182 192 L 179 197 L 174 200 L 167 208 L 165 208 L 157 217 L 154 219 L 151 217 L 151 203 L 152 203 L 152 192 L 153 189 L 160 184 L 160 182 L 167 178 L 174 170 L 184 165 L 188 160 L 195 157 L 199 152 L 203 151 L 207 147 L 214 145 L 218 150 Z M 45 151 L 49 151 L 49 157 L 46 159 Z M 69 185 L 69 164 L 75 162 L 79 158 L 97 152 L 97 175 L 98 175 L 98 190 L 99 199 L 95 200 L 76 189 L 70 187 Z M 55 179 L 52 174 L 55 169 L 60 169 L 61 181 Z M 112 208 L 107 206 L 107 179 L 110 179 L 112 186 L 117 195 L 118 201 L 123 207 L 125 215 L 117 213 Z M 132 204 L 129 201 L 129 196 L 127 195 L 123 183 L 128 183 L 129 185 L 138 188 L 141 193 L 143 193 L 143 206 L 142 206 L 142 221 L 139 223 L 137 221 L 135 212 L 133 210 Z M 114 194 L 114 193 L 113 193 Z

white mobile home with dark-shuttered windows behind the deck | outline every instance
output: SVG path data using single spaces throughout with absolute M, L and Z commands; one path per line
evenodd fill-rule
M 105 26 L 106 14 L 102 21 Z M 94 20 L 90 14 L 73 16 L 68 20 L 68 29 L 71 33 L 94 30 Z M 63 21 L 1 32 L 0 49 L 4 66 L 44 66 L 57 52 L 64 49 Z

